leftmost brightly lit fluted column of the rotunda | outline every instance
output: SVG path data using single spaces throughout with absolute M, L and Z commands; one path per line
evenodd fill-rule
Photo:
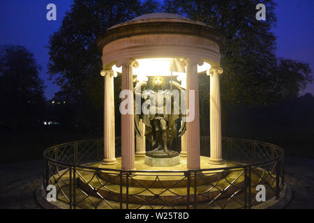
M 116 164 L 114 144 L 114 72 L 113 70 L 102 70 L 100 74 L 105 77 L 104 87 L 104 118 L 103 118 L 103 144 L 104 164 Z

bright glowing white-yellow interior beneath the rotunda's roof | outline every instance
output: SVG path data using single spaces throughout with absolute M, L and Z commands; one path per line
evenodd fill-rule
M 180 59 L 177 59 L 177 61 Z M 186 71 L 178 72 L 173 64 L 172 58 L 148 58 L 148 59 L 137 59 L 139 64 L 137 68 L 133 68 L 133 75 L 137 76 L 138 81 L 147 81 L 147 77 L 149 76 L 177 76 L 178 80 L 186 77 Z M 204 62 L 202 66 L 197 65 L 197 72 L 205 72 L 211 68 L 209 63 Z M 114 70 L 114 75 L 122 72 L 122 67 L 117 68 L 114 64 L 112 66 L 112 70 Z M 184 69 L 185 70 L 185 69 Z

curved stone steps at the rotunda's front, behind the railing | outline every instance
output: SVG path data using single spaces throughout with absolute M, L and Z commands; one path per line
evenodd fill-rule
M 204 175 L 203 175 L 204 176 Z M 244 174 L 241 174 L 241 171 L 232 171 L 227 176 L 225 174 L 220 174 L 221 178 L 218 180 L 207 183 L 204 185 L 198 185 L 196 187 L 196 201 L 204 202 L 211 201 L 215 197 L 223 199 L 229 197 L 231 194 L 241 190 L 244 187 Z M 181 180 L 185 177 L 182 176 Z M 196 180 L 202 179 L 202 174 L 197 176 Z M 206 178 L 205 178 L 206 179 Z M 234 180 L 236 179 L 236 180 Z M 128 191 L 125 185 L 119 185 L 112 183 L 110 181 L 105 181 L 103 178 L 100 178 L 98 174 L 89 173 L 82 171 L 80 178 L 77 180 L 77 185 L 94 197 L 103 197 L 110 201 L 122 201 L 128 203 L 149 203 L 151 205 L 164 205 L 165 203 L 171 203 L 171 205 L 180 205 L 188 202 L 188 199 L 194 201 L 194 190 L 193 185 L 190 187 L 186 183 L 174 183 L 176 180 L 172 180 L 172 183 L 167 183 L 167 186 L 161 187 L 147 187 L 142 185 L 139 187 L 139 183 L 136 179 L 136 176 L 129 176 L 128 182 Z M 235 182 L 230 185 L 234 180 Z M 132 183 L 134 181 L 134 183 Z M 151 185 L 158 181 L 158 177 L 155 180 L 151 180 Z M 165 181 L 165 180 L 163 180 Z M 191 180 L 192 181 L 192 180 Z M 203 183 L 207 180 L 202 181 Z M 126 182 L 124 182 L 126 183 Z M 164 183 L 164 182 L 163 182 Z M 136 185 L 133 186 L 133 185 Z M 160 183 L 162 185 L 162 183 Z M 190 196 L 188 196 L 188 188 L 190 188 Z M 122 198 L 120 195 L 122 192 Z

